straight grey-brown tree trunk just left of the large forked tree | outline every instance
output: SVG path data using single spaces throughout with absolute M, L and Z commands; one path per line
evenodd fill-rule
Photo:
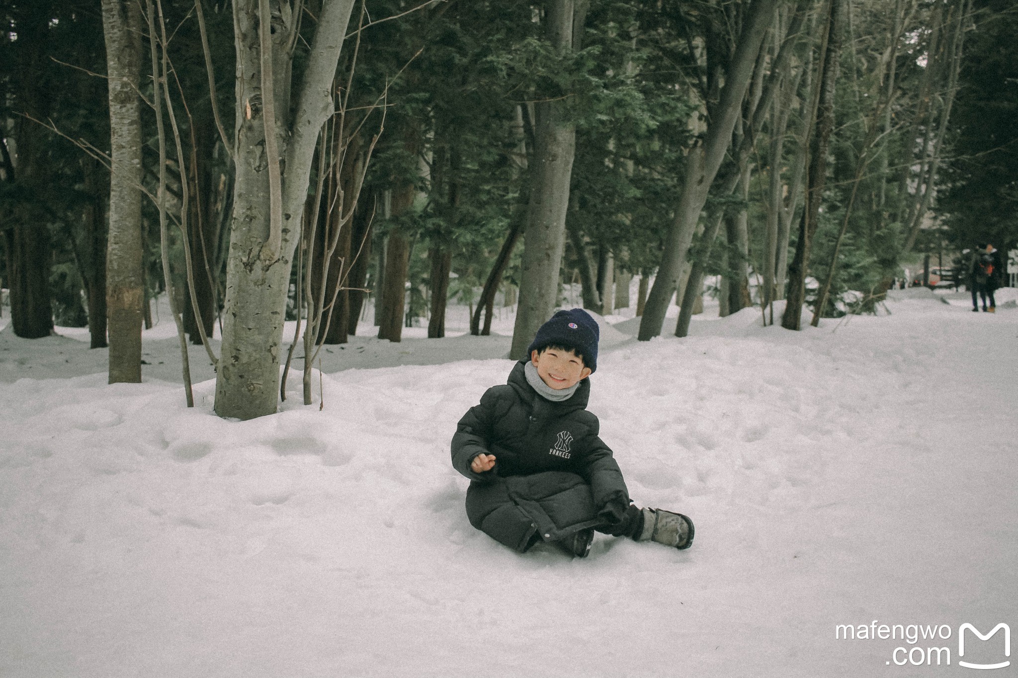
M 106 255 L 109 381 L 142 381 L 142 11 L 133 0 L 103 0 L 109 73 L 112 176 Z

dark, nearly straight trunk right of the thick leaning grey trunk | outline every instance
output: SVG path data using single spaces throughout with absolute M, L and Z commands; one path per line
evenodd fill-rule
M 809 173 L 805 193 L 805 207 L 799 221 L 799 239 L 795 244 L 795 256 L 789 265 L 788 301 L 781 326 L 785 329 L 800 329 L 802 325 L 802 304 L 806 296 L 806 271 L 809 265 L 809 250 L 816 233 L 821 199 L 827 181 L 827 155 L 834 130 L 834 94 L 838 79 L 838 57 L 841 52 L 841 24 L 845 14 L 845 0 L 831 0 L 831 14 L 828 21 L 827 50 L 821 76 L 819 100 L 816 109 L 816 134 L 810 146 Z

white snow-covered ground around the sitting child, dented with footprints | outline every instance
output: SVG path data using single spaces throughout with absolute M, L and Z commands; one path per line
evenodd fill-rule
M 81 330 L 4 329 L 0 675 L 926 676 L 895 649 L 931 644 L 956 670 L 962 623 L 1018 630 L 1013 292 L 991 315 L 904 291 L 801 332 L 708 313 L 648 343 L 611 316 L 590 410 L 633 499 L 696 539 L 599 535 L 585 560 L 463 512 L 449 439 L 511 368 L 506 311 L 502 335 L 330 347 L 323 411 L 293 375 L 242 423 L 211 380 L 184 408 L 172 323 L 116 385 Z M 952 634 L 835 639 L 873 620 Z M 1002 633 L 967 640 L 1003 661 Z

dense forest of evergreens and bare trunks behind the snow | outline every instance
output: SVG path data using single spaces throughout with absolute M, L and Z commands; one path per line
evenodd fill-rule
M 794 330 L 1018 242 L 1011 0 L 2 2 L 12 330 L 88 325 L 139 381 L 169 292 L 223 417 L 369 295 L 398 342 L 453 297 L 487 334 L 501 291 L 519 358 L 563 284 L 640 340 L 704 293 Z

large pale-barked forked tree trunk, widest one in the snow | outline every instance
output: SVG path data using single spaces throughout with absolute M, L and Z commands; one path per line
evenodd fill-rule
M 233 3 L 236 48 L 235 182 L 230 252 L 226 270 L 223 349 L 216 375 L 216 414 L 252 419 L 276 412 L 279 352 L 293 252 L 318 136 L 335 110 L 332 85 L 353 0 L 324 0 L 318 26 L 291 111 L 290 41 L 297 16 L 289 3 L 271 3 L 275 110 L 266 111 L 262 88 L 259 2 Z M 263 17 L 264 18 L 264 17 Z M 273 116 L 266 124 L 263 116 Z M 271 219 L 266 128 L 274 129 L 282 167 L 282 214 L 278 233 Z M 275 168 L 273 168 L 275 169 Z M 264 254 L 278 251 L 273 257 Z M 266 244 L 270 247 L 266 248 Z

